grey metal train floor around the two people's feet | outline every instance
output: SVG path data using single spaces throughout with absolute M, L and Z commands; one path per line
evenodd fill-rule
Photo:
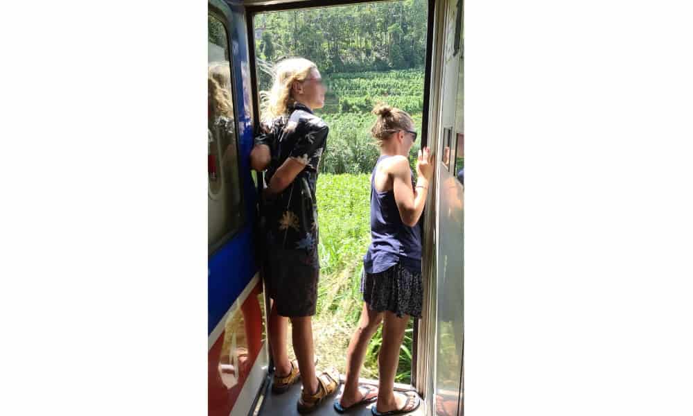
M 340 397 L 342 395 L 342 388 L 344 388 L 344 384 L 340 385 L 340 390 L 337 392 L 335 395 L 332 395 L 330 397 L 327 397 L 324 399 L 322 404 L 315 410 L 315 412 L 310 413 L 310 415 L 315 415 L 315 416 L 324 416 L 324 415 L 339 415 L 340 413 L 337 413 L 337 411 L 333 408 L 333 404 L 335 402 L 335 399 L 337 397 Z M 283 393 L 281 395 L 273 395 L 270 389 L 267 389 L 267 392 L 265 394 L 264 403 L 262 404 L 260 413 L 258 415 L 261 416 L 299 416 L 300 413 L 298 413 L 298 410 L 296 410 L 296 404 L 299 400 L 299 396 L 301 395 L 301 383 L 300 381 L 298 383 L 295 383 L 294 385 L 291 386 L 288 392 Z M 373 404 L 368 404 L 368 405 L 362 405 L 358 406 L 356 408 L 353 408 L 349 410 L 347 413 L 344 413 L 344 415 L 358 415 L 358 416 L 372 416 L 371 413 L 371 407 L 376 406 L 375 403 Z M 423 401 L 421 401 L 421 405 L 419 406 L 418 409 L 414 410 L 412 413 L 407 413 L 407 415 L 416 415 L 416 416 L 423 416 L 424 413 L 424 406 Z

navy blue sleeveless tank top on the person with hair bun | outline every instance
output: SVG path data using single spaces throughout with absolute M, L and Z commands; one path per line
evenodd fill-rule
M 394 191 L 378 192 L 375 186 L 378 164 L 389 157 L 378 157 L 371 173 L 371 245 L 363 257 L 367 273 L 383 272 L 397 263 L 421 272 L 421 227 L 409 227 L 402 222 L 394 200 Z M 412 189 L 414 189 L 412 174 Z

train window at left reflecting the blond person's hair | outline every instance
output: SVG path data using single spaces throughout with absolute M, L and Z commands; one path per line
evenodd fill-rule
M 238 135 L 231 92 L 227 30 L 209 15 L 208 27 L 208 244 L 214 250 L 243 222 L 238 169 Z

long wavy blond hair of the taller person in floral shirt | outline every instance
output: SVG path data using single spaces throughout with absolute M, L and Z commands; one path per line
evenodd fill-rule
M 263 120 L 268 121 L 287 114 L 289 107 L 294 104 L 291 85 L 295 81 L 305 80 L 311 69 L 317 69 L 317 65 L 305 58 L 288 58 L 274 66 L 270 91 L 260 92 Z

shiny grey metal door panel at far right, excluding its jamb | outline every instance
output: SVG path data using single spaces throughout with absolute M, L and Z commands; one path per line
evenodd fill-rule
M 464 135 L 462 0 L 447 0 L 437 157 L 437 312 L 435 412 L 462 415 L 464 339 Z

